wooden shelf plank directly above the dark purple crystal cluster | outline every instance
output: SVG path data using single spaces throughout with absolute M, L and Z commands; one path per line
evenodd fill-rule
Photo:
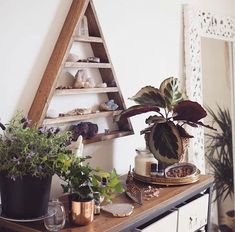
M 102 117 L 111 117 L 119 114 L 121 110 L 115 111 L 104 111 L 92 114 L 84 114 L 84 115 L 76 115 L 76 116 L 65 116 L 65 117 L 58 117 L 58 118 L 46 118 L 43 121 L 44 125 L 51 125 L 51 124 L 60 124 L 60 123 L 68 123 L 68 122 L 75 122 L 75 121 L 84 121 L 94 118 L 102 118 Z

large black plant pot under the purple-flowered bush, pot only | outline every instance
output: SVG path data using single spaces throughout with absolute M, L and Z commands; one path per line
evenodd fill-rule
M 45 215 L 51 189 L 51 176 L 24 176 L 12 180 L 0 175 L 2 215 L 14 219 L 32 219 Z

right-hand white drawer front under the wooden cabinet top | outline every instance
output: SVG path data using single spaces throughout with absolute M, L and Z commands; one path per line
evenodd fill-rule
M 178 232 L 194 232 L 207 224 L 209 194 L 178 209 Z

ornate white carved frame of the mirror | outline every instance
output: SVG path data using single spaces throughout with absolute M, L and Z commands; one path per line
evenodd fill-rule
M 235 42 L 235 20 L 214 15 L 189 5 L 184 6 L 186 91 L 190 100 L 203 104 L 201 38 L 221 39 Z M 205 172 L 204 130 L 191 131 L 194 139 L 190 141 L 188 159 Z

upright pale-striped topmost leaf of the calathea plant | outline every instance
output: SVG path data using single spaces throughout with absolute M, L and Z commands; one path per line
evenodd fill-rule
M 160 85 L 160 91 L 165 96 L 166 106 L 169 111 L 184 100 L 184 94 L 179 91 L 179 80 L 174 77 L 165 79 Z

